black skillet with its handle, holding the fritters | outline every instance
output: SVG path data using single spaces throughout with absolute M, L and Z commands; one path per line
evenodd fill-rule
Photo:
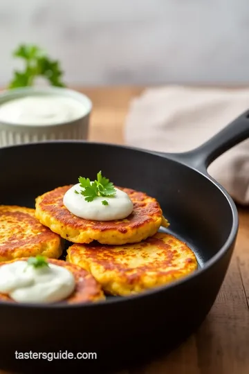
M 168 232 L 194 249 L 200 265 L 194 274 L 171 285 L 94 305 L 0 303 L 1 368 L 103 373 L 104 368 L 129 365 L 159 349 L 166 352 L 201 325 L 223 282 L 238 230 L 237 208 L 207 168 L 248 138 L 248 117 L 249 111 L 201 147 L 182 154 L 83 141 L 0 150 L 1 204 L 33 207 L 37 195 L 75 184 L 79 175 L 93 178 L 102 170 L 118 186 L 156 197 L 171 224 Z M 15 351 L 30 350 L 97 353 L 97 359 L 15 358 Z

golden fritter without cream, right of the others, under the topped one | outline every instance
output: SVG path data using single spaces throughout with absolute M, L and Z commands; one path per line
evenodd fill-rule
M 105 292 L 120 296 L 171 283 L 198 267 L 192 250 L 167 233 L 119 247 L 73 244 L 67 260 L 93 274 Z

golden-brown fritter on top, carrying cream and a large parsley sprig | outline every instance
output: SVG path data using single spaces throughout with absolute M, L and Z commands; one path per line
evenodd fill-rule
M 133 202 L 133 212 L 124 220 L 93 221 L 73 215 L 63 204 L 63 197 L 71 186 L 55 188 L 36 199 L 36 217 L 58 233 L 75 243 L 126 244 L 140 242 L 154 235 L 160 226 L 169 226 L 160 205 L 145 193 L 120 188 Z

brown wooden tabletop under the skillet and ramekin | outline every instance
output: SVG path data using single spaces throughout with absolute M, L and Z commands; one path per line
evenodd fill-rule
M 94 107 L 90 140 L 122 144 L 129 102 L 141 91 L 84 89 Z M 228 274 L 201 328 L 167 357 L 122 374 L 249 374 L 249 208 L 239 208 L 239 218 Z

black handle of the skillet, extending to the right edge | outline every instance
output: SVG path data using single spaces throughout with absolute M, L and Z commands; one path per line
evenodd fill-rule
M 182 153 L 169 153 L 167 157 L 183 162 L 197 170 L 206 171 L 212 161 L 248 138 L 249 109 L 198 148 Z

